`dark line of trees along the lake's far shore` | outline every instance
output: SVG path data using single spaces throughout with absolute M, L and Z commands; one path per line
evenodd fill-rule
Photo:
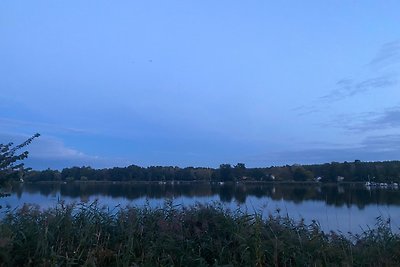
M 313 165 L 286 165 L 246 168 L 245 164 L 221 164 L 219 168 L 173 166 L 115 167 L 93 169 L 72 167 L 31 171 L 26 181 L 321 181 L 400 182 L 400 161 L 331 162 Z

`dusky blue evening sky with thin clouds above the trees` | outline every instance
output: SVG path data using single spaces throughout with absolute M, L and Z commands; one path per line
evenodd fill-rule
M 0 2 L 34 169 L 400 159 L 399 1 Z

